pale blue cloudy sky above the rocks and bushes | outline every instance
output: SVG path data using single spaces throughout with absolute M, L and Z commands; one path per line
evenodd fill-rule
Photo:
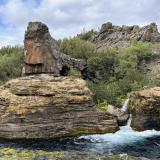
M 160 29 L 160 0 L 0 0 L 0 47 L 23 45 L 29 21 L 47 24 L 55 39 L 98 30 L 106 22 L 156 22 Z

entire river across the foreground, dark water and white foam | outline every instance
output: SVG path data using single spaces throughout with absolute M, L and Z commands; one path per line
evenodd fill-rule
M 123 108 L 123 107 L 122 107 Z M 127 109 L 127 107 L 125 107 Z M 160 158 L 160 132 L 146 130 L 133 131 L 131 116 L 126 126 L 113 134 L 87 135 L 57 140 L 2 141 L 0 147 L 19 149 L 42 149 L 49 151 L 88 151 L 110 154 L 128 154 L 148 158 Z

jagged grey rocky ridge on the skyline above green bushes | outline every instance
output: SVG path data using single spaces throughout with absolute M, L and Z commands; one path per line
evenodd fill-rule
M 94 36 L 92 42 L 97 45 L 97 48 L 103 46 L 109 47 L 128 47 L 132 40 L 144 42 L 160 42 L 160 33 L 157 25 L 151 23 L 150 25 L 139 27 L 134 26 L 114 26 L 108 22 L 102 25 L 99 33 Z

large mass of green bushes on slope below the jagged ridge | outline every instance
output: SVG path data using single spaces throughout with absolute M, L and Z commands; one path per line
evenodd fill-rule
M 66 54 L 87 61 L 90 73 L 90 80 L 87 82 L 95 95 L 96 103 L 107 102 L 118 106 L 129 92 L 159 82 L 159 78 L 151 82 L 143 66 L 143 63 L 159 56 L 153 52 L 153 44 L 134 41 L 130 47 L 124 49 L 96 50 L 88 41 L 70 38 L 64 39 L 61 47 Z

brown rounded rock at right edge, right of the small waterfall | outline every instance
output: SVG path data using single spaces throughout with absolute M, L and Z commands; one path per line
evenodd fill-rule
M 132 114 L 131 127 L 133 129 L 160 130 L 160 87 L 132 93 L 129 110 Z

